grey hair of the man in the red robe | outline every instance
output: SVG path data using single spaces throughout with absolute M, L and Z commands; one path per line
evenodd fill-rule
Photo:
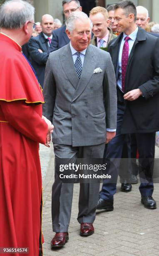
M 34 20 L 35 8 L 22 0 L 10 0 L 0 7 L 0 28 L 18 29 L 27 20 Z

